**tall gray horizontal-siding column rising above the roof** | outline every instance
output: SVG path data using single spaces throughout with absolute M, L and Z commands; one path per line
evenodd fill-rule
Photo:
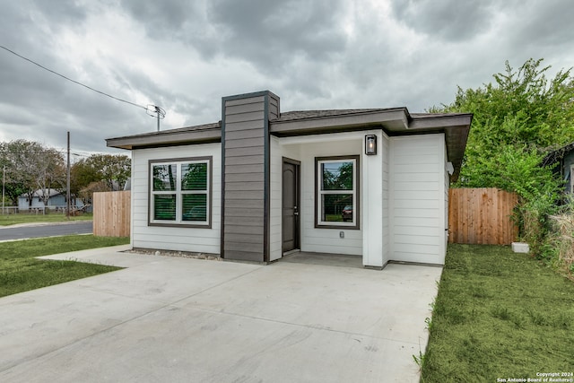
M 270 91 L 222 99 L 222 254 L 269 260 L 269 118 L 279 114 Z

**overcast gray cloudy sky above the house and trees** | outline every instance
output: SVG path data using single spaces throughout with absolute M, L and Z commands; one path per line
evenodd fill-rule
M 273 91 L 283 111 L 448 104 L 504 70 L 574 66 L 571 0 L 0 1 L 0 45 L 123 100 L 161 129 L 221 119 L 221 99 Z M 0 49 L 0 141 L 122 152 L 145 110 Z M 127 152 L 124 152 L 127 153 Z

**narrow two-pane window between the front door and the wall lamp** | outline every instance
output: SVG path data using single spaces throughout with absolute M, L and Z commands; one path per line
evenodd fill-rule
M 315 227 L 359 229 L 359 156 L 315 159 Z

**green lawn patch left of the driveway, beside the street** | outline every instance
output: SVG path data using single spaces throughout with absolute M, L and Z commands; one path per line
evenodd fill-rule
M 108 273 L 120 268 L 84 264 L 74 260 L 40 260 L 34 257 L 127 243 L 129 243 L 127 238 L 94 237 L 92 235 L 2 242 L 0 243 L 0 297 Z

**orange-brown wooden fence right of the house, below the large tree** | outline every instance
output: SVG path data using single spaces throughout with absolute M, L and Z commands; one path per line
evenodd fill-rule
M 515 193 L 491 187 L 448 190 L 448 242 L 509 245 L 517 239 L 510 220 Z

